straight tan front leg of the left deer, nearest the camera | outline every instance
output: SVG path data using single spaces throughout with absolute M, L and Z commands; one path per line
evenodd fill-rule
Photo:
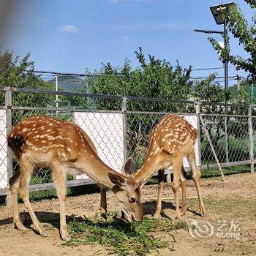
M 56 184 L 56 192 L 59 197 L 60 208 L 60 235 L 64 241 L 69 241 L 71 237 L 67 233 L 66 210 L 67 200 L 66 171 L 60 165 L 53 166 L 53 180 Z

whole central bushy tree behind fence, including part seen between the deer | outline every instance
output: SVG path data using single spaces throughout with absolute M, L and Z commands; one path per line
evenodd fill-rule
M 126 59 L 124 66 L 112 67 L 110 63 L 103 64 L 96 77 L 91 79 L 88 73 L 90 91 L 94 94 L 113 94 L 134 97 L 150 97 L 165 99 L 187 99 L 190 95 L 192 82 L 189 80 L 192 67 L 184 69 L 176 63 L 173 67 L 165 59 L 160 60 L 152 55 L 144 55 L 142 48 L 135 51 L 140 66 L 132 70 L 130 61 Z M 94 100 L 98 109 L 120 110 L 118 99 Z M 129 100 L 128 110 L 154 112 L 184 113 L 187 105 L 173 102 L 151 102 L 148 100 Z M 128 154 L 135 157 L 136 165 L 142 163 L 147 151 L 147 135 L 161 118 L 162 114 L 127 113 L 127 143 Z

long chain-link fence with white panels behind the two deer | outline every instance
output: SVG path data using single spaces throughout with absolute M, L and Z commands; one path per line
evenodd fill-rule
M 24 118 L 39 115 L 78 124 L 93 140 L 102 161 L 119 171 L 127 157 L 135 159 L 136 169 L 143 164 L 149 132 L 162 116 L 175 113 L 185 116 L 199 131 L 195 150 L 201 169 L 251 165 L 254 171 L 253 106 L 20 88 L 2 88 L 0 96 L 0 195 L 10 194 L 8 181 L 18 170 L 7 147 L 7 134 Z M 62 104 L 56 104 L 58 101 Z M 67 176 L 68 187 L 91 183 L 94 181 L 85 175 Z M 52 188 L 50 168 L 42 168 L 31 179 L 30 191 Z

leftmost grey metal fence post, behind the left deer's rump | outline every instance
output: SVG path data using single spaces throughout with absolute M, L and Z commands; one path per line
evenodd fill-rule
M 12 91 L 8 87 L 5 91 L 5 108 L 6 108 L 6 137 L 12 130 Z M 7 146 L 7 179 L 8 182 L 12 177 L 12 151 Z M 7 206 L 12 205 L 12 197 L 10 193 L 5 197 L 5 203 Z

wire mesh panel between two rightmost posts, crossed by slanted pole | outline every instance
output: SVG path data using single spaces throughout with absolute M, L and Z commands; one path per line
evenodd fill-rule
M 227 133 L 225 133 L 227 118 Z M 203 116 L 211 143 L 219 162 L 249 160 L 248 117 Z M 203 127 L 200 127 L 201 159 L 203 165 L 216 163 Z

